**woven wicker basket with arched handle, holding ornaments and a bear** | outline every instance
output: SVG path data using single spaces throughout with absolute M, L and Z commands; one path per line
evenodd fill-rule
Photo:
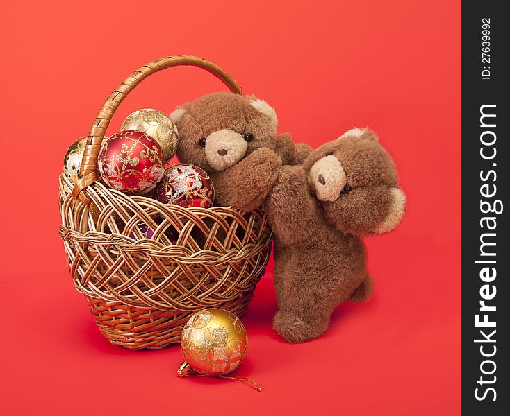
M 151 62 L 126 78 L 101 107 L 80 175 L 59 177 L 60 236 L 74 285 L 101 333 L 130 349 L 179 342 L 189 315 L 199 309 L 224 308 L 242 316 L 270 255 L 272 232 L 262 210 L 164 205 L 97 182 L 101 140 L 118 105 L 151 73 L 177 65 L 206 69 L 242 94 L 226 72 L 201 58 Z M 144 238 L 144 227 L 154 236 Z

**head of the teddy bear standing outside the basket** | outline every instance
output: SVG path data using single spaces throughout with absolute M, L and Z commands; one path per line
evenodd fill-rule
M 371 130 L 349 130 L 317 148 L 303 167 L 324 218 L 341 232 L 380 234 L 402 220 L 406 197 L 395 164 Z

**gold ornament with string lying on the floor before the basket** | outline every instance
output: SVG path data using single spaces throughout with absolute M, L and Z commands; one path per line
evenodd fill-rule
M 181 335 L 181 350 L 184 361 L 179 367 L 179 376 L 224 376 L 236 370 L 246 355 L 248 337 L 245 326 L 233 313 L 224 309 L 204 309 L 194 313 L 184 325 Z M 253 381 L 241 377 L 224 377 Z

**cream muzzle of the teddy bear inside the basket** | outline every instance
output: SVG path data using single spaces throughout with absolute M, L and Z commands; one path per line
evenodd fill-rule
M 207 162 L 215 171 L 224 171 L 239 162 L 247 149 L 245 138 L 233 130 L 217 130 L 206 137 Z

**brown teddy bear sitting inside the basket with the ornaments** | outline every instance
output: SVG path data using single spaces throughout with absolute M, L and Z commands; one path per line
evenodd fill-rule
M 289 134 L 277 135 L 277 113 L 255 97 L 208 94 L 170 118 L 179 130 L 179 159 L 211 176 L 219 205 L 263 205 L 282 164 L 299 164 L 311 153 L 306 144 L 294 146 Z

